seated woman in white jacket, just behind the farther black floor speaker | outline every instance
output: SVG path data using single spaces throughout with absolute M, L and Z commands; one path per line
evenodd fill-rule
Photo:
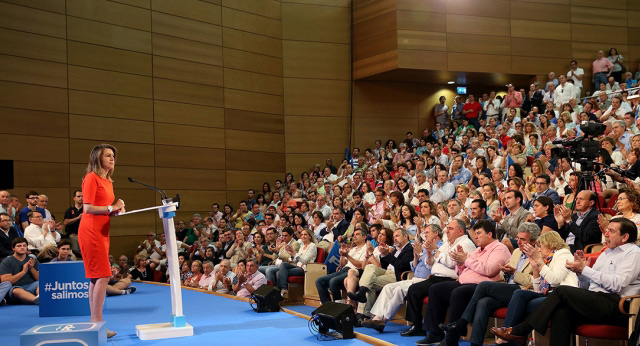
M 290 275 L 302 276 L 307 268 L 307 263 L 313 263 L 318 255 L 318 247 L 316 246 L 316 237 L 309 229 L 303 229 L 300 234 L 302 245 L 297 253 L 293 251 L 290 245 L 286 245 L 287 252 L 289 253 L 290 260 L 288 262 L 282 262 L 280 269 L 276 273 L 276 279 L 278 280 L 278 287 L 280 288 L 280 294 L 287 298 L 287 279 Z

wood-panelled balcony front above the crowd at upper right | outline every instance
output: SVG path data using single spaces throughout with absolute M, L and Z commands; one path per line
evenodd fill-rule
M 547 80 L 576 59 L 590 88 L 598 50 L 640 58 L 635 0 L 355 0 L 354 78 L 390 69 L 501 72 Z

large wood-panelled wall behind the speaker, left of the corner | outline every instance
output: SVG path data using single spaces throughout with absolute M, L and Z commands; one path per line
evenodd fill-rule
M 297 42 L 308 23 L 289 5 Z M 282 179 L 282 27 L 276 0 L 0 1 L 0 157 L 15 160 L 11 192 L 23 204 L 27 190 L 49 195 L 61 219 L 101 142 L 119 149 L 116 196 L 128 209 L 159 203 L 128 176 L 181 193 L 183 219 Z M 294 44 L 290 75 L 304 77 L 293 89 L 308 99 L 298 89 L 315 67 L 295 62 L 305 48 Z M 161 229 L 153 213 L 114 219 L 112 253 L 131 254 L 149 229 Z

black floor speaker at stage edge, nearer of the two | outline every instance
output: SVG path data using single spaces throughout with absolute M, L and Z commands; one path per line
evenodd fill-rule
M 315 309 L 311 316 L 318 320 L 321 334 L 326 334 L 329 329 L 333 329 L 342 334 L 343 339 L 353 339 L 353 326 L 356 324 L 356 315 L 353 308 L 348 304 L 326 302 Z

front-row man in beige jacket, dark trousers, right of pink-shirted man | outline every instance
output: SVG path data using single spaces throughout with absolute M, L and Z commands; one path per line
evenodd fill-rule
M 491 314 L 501 307 L 507 307 L 513 292 L 525 290 L 531 285 L 533 268 L 527 255 L 520 249 L 524 244 L 536 246 L 540 227 L 532 222 L 524 222 L 517 231 L 518 248 L 513 251 L 509 264 L 501 267 L 507 283 L 483 281 L 478 285 L 462 317 L 453 323 L 440 325 L 447 332 L 447 344 L 457 344 L 460 337 L 467 334 L 467 325 L 471 322 L 473 330 L 469 341 L 472 345 L 482 345 Z

